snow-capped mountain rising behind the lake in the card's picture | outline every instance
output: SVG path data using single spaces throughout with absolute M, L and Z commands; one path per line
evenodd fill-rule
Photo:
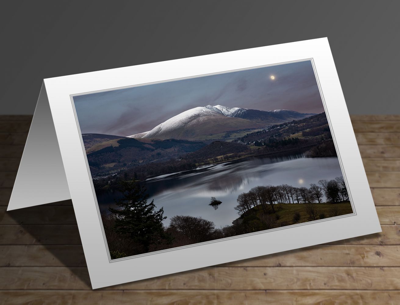
M 134 134 L 129 138 L 197 140 L 210 134 L 265 128 L 271 124 L 300 120 L 312 115 L 314 114 L 302 114 L 292 110 L 262 111 L 207 105 L 181 112 L 152 130 Z

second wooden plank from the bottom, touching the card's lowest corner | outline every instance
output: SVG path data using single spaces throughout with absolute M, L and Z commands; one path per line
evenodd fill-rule
M 302 290 L 400 288 L 399 267 L 202 268 L 98 290 Z M 1 267 L 0 290 L 89 290 L 86 267 Z

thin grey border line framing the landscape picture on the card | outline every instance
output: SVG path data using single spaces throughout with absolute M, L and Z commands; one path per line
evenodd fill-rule
M 323 94 L 322 94 L 322 89 L 321 89 L 321 87 L 320 87 L 320 82 L 319 82 L 319 79 L 318 79 L 318 74 L 316 73 L 316 69 L 315 69 L 315 66 L 314 66 L 314 58 L 306 58 L 306 59 L 303 59 L 303 60 L 294 60 L 294 61 L 290 61 L 290 62 L 281 62 L 281 63 L 270 64 L 270 65 L 254 66 L 254 67 L 250 67 L 250 68 L 228 70 L 228 71 L 216 72 L 216 73 L 210 73 L 210 74 L 200 74 L 200 75 L 196 75 L 196 76 L 190 76 L 190 77 L 184 77 L 184 78 L 175 78 L 175 79 L 171 79 L 171 80 L 163 80 L 163 81 L 160 81 L 160 82 L 151 82 L 151 83 L 137 84 L 137 85 L 133 85 L 133 86 L 116 87 L 116 88 L 110 88 L 110 89 L 106 89 L 106 90 L 96 90 L 96 91 L 84 92 L 84 93 L 80 93 L 80 94 L 70 94 L 70 99 L 71 99 L 71 102 L 72 102 L 72 108 L 73 108 L 73 110 L 74 110 L 74 115 L 75 115 L 75 121 L 76 121 L 76 124 L 77 124 L 77 127 L 78 127 L 79 137 L 80 137 L 80 141 L 81 141 L 83 153 L 84 153 L 84 156 L 85 156 L 85 159 L 86 159 L 86 168 L 87 168 L 87 170 L 88 170 L 89 176 L 92 177 L 92 174 L 91 174 L 91 172 L 90 172 L 90 168 L 89 168 L 89 165 L 88 165 L 89 163 L 88 163 L 86 151 L 84 150 L 84 144 L 83 144 L 82 133 L 81 133 L 81 131 L 80 131 L 79 121 L 78 121 L 78 117 L 77 117 L 76 109 L 75 109 L 75 104 L 74 104 L 74 96 L 81 96 L 81 95 L 93 94 L 93 93 L 98 93 L 98 92 L 108 92 L 108 91 L 114 91 L 114 90 L 120 90 L 120 89 L 126 89 L 126 88 L 135 88 L 135 87 L 140 87 L 140 86 L 147 86 L 147 85 L 153 85 L 153 84 L 161 84 L 161 83 L 165 83 L 165 82 L 174 82 L 174 81 L 177 81 L 177 80 L 186 80 L 186 79 L 191 79 L 191 78 L 198 78 L 198 77 L 203 77 L 203 76 L 211 76 L 211 75 L 225 74 L 225 73 L 230 73 L 230 72 L 238 72 L 238 71 L 253 70 L 253 69 L 257 69 L 257 68 L 264 68 L 264 67 L 271 67 L 271 66 L 279 66 L 279 65 L 283 65 L 283 64 L 291 64 L 291 63 L 295 63 L 295 62 L 305 62 L 305 61 L 308 61 L 308 60 L 310 60 L 310 62 L 311 62 L 311 64 L 312 64 L 312 67 L 313 67 L 313 70 L 314 70 L 314 76 L 315 76 L 316 81 L 317 81 L 317 84 L 318 84 L 318 90 L 319 90 L 320 95 L 321 95 L 322 104 L 323 104 L 323 106 L 324 106 L 325 114 L 326 114 L 326 117 L 327 117 L 327 119 L 328 119 L 328 125 L 329 125 L 329 128 L 330 128 L 330 127 L 331 127 L 330 118 L 329 118 L 329 116 L 328 116 L 328 112 L 326 111 L 325 99 L 324 99 L 324 96 L 323 96 Z M 331 128 L 330 128 L 330 129 L 331 129 Z M 332 130 L 331 130 L 331 132 L 332 132 Z M 348 184 L 347 184 L 347 179 L 346 179 L 346 175 L 345 175 L 345 172 L 344 172 L 344 170 L 343 170 L 342 161 L 341 161 L 341 158 L 340 158 L 340 154 L 338 153 L 338 150 L 337 150 L 336 139 L 334 138 L 334 133 L 333 133 L 333 132 L 332 132 L 332 136 L 333 136 L 333 140 L 334 140 L 334 144 L 335 144 L 335 150 L 336 150 L 336 153 L 337 153 L 338 159 L 339 159 L 340 169 L 342 170 L 342 174 L 345 176 L 346 185 L 348 186 Z M 122 258 L 120 258 L 120 259 L 111 259 L 110 250 L 109 250 L 109 248 L 108 248 L 108 243 L 107 243 L 106 235 L 105 235 L 105 233 L 104 233 L 104 226 L 103 226 L 103 223 L 102 223 L 102 220 L 101 220 L 101 214 L 100 214 L 100 209 L 99 209 L 98 202 L 97 202 L 96 192 L 95 192 L 95 190 L 94 190 L 93 179 L 90 179 L 90 184 L 91 184 L 91 186 L 92 186 L 92 193 L 93 193 L 93 196 L 94 196 L 94 201 L 95 201 L 95 203 L 96 203 L 96 209 L 97 209 L 97 212 L 98 212 L 98 217 L 99 217 L 100 225 L 101 225 L 101 227 L 102 227 L 102 234 L 103 234 L 104 243 L 105 243 L 105 245 L 106 245 L 106 249 L 108 250 L 108 251 L 107 251 L 107 254 L 108 254 L 108 261 L 109 261 L 109 263 L 114 263 L 114 262 L 118 262 L 118 261 L 124 261 L 124 260 L 126 260 L 126 259 L 134 259 L 134 258 L 136 258 L 136 257 L 143 257 L 143 256 L 147 256 L 147 255 L 154 255 L 154 254 L 158 254 L 158 253 L 164 253 L 164 252 L 169 252 L 169 251 L 175 251 L 175 250 L 180 250 L 180 249 L 186 249 L 186 248 L 189 248 L 189 247 L 196 247 L 196 246 L 199 246 L 199 245 L 206 245 L 206 244 L 209 244 L 209 243 L 216 243 L 216 242 L 220 242 L 220 241 L 224 241 L 224 240 L 230 240 L 230 239 L 248 237 L 248 236 L 250 236 L 250 235 L 256 235 L 256 234 L 262 234 L 262 233 L 268 233 L 268 232 L 278 231 L 278 230 L 286 229 L 286 228 L 289 228 L 289 227 L 299 227 L 299 226 L 308 225 L 308 224 L 311 224 L 311 223 L 318 223 L 318 222 L 322 222 L 322 221 L 330 221 L 330 220 L 334 220 L 334 219 L 340 219 L 340 218 L 351 217 L 351 216 L 357 215 L 356 212 L 355 212 L 355 208 L 354 208 L 354 206 L 353 206 L 353 203 L 352 203 L 352 197 L 351 197 L 351 194 L 350 194 L 350 190 L 348 189 L 348 192 L 349 192 L 349 194 L 350 194 L 350 204 L 351 204 L 352 210 L 353 210 L 353 213 L 351 213 L 351 214 L 339 215 L 339 216 L 336 216 L 336 217 L 329 217 L 329 218 L 326 218 L 326 219 L 319 219 L 319 220 L 314 220 L 314 221 L 307 221 L 307 222 L 304 222 L 304 223 L 293 224 L 293 225 L 287 225 L 287 226 L 285 226 L 285 227 L 279 227 L 279 228 L 274 228 L 274 229 L 268 229 L 268 230 L 263 230 L 263 231 L 257 231 L 257 232 L 242 234 L 242 235 L 238 235 L 238 236 L 225 237 L 225 238 L 215 239 L 215 240 L 212 240 L 212 241 L 205 241 L 205 242 L 202 242 L 202 243 L 195 243 L 195 244 L 192 244 L 192 245 L 186 245 L 186 246 L 181 246 L 181 247 L 174 247 L 174 248 L 170 248 L 170 249 L 164 249 L 164 250 L 159 250 L 159 251 L 153 251 L 153 252 L 150 252 L 150 253 L 142 253 L 142 254 L 137 254 L 137 255 L 131 255 L 131 256 L 128 256 L 128 257 L 122 257 Z

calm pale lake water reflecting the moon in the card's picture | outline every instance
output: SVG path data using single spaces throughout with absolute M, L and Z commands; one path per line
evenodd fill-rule
M 164 207 L 164 221 L 169 224 L 174 215 L 201 216 L 214 221 L 216 227 L 230 225 L 238 217 L 234 207 L 242 192 L 257 185 L 289 184 L 309 187 L 320 179 L 341 176 L 337 157 L 304 158 L 294 155 L 281 158 L 252 158 L 244 161 L 208 165 L 198 169 L 161 175 L 145 182 L 150 200 L 158 208 Z M 97 193 L 100 211 L 114 206 L 114 198 L 121 197 L 116 190 Z M 211 197 L 222 201 L 214 210 Z

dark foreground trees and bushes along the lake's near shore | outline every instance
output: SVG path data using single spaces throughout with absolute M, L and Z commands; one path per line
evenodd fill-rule
M 324 196 L 332 203 L 348 200 L 343 177 L 320 180 L 318 185 L 310 184 L 309 188 L 287 184 L 257 186 L 238 196 L 235 209 L 240 214 L 240 221 L 236 219 L 233 225 L 217 228 L 212 221 L 202 217 L 175 215 L 165 226 L 163 207 L 157 209 L 154 201 L 148 202 L 145 187 L 134 181 L 120 181 L 119 189 L 123 197 L 116 201 L 118 208 L 110 207 L 110 213 L 102 215 L 112 259 L 283 227 L 300 221 L 299 213 L 294 213 L 290 221 L 280 219 L 285 208 L 282 210 L 279 203 L 305 203 L 301 207 L 304 206 L 308 215 L 307 221 L 312 221 L 326 217 L 318 212 L 322 211 L 318 203 L 313 202 L 322 203 Z M 210 205 L 213 206 L 212 203 L 219 205 L 221 201 L 212 197 Z M 288 206 L 296 205 L 286 205 L 286 209 Z M 288 209 L 285 213 L 292 212 Z M 343 214 L 334 204 L 329 213 L 330 217 Z

